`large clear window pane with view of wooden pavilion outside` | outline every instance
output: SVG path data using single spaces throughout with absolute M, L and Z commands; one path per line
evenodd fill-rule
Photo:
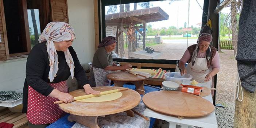
M 105 6 L 105 36 L 116 36 L 119 58 L 181 59 L 187 47 L 197 43 L 202 26 L 203 0 L 197 1 Z

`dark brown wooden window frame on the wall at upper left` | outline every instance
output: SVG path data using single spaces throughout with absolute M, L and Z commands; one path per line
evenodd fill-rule
M 9 47 L 8 47 L 8 38 L 7 38 L 7 30 L 6 30 L 6 21 L 5 21 L 5 13 L 4 13 L 4 0 L 0 1 L 1 4 L 1 17 L 2 17 L 2 24 L 3 24 L 3 34 L 4 34 L 4 46 L 5 46 L 5 55 L 6 57 L 1 57 L 2 60 L 9 60 L 9 59 L 15 59 L 20 58 L 21 56 L 27 56 L 31 51 L 31 41 L 30 41 L 30 34 L 29 34 L 29 25 L 28 25 L 28 12 L 27 12 L 27 0 L 19 0 L 19 10 L 21 12 L 21 24 L 22 24 L 22 36 L 25 38 L 22 38 L 22 46 L 24 51 L 22 53 L 9 53 Z M 43 31 L 42 28 L 44 28 L 47 23 L 51 21 L 50 15 L 50 0 L 42 0 L 41 6 L 39 6 L 39 21 L 40 21 L 40 32 Z

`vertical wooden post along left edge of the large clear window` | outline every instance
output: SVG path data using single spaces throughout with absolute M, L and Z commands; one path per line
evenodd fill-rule
M 94 5 L 94 34 L 95 34 L 95 51 L 100 44 L 100 30 L 99 30 L 99 18 L 98 18 L 98 0 L 93 0 Z

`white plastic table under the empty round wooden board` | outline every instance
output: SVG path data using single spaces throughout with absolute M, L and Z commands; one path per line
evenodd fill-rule
M 212 94 L 209 96 L 203 97 L 210 102 L 212 100 Z M 181 125 L 182 128 L 188 128 L 189 126 L 197 126 L 202 128 L 218 128 L 216 121 L 215 112 L 213 111 L 210 115 L 202 117 L 184 117 L 183 119 L 178 119 L 177 116 L 167 116 L 161 113 L 158 113 L 154 110 L 147 108 L 144 111 L 144 115 L 148 117 L 153 117 L 156 119 L 166 120 L 170 123 L 169 128 L 176 128 L 176 125 Z

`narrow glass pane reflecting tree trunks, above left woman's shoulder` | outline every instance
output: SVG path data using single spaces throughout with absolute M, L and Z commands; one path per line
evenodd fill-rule
M 39 9 L 28 9 L 28 26 L 31 40 L 31 49 L 38 44 L 40 36 Z

